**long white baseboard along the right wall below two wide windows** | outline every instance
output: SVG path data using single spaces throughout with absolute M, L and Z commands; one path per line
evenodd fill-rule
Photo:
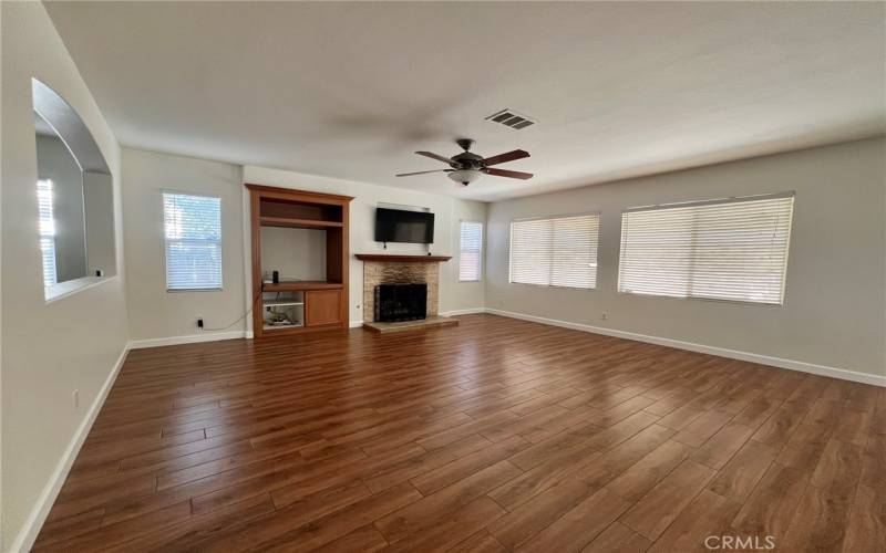
M 772 357 L 769 355 L 760 355 L 749 352 L 740 352 L 736 349 L 727 349 L 724 347 L 715 347 L 703 344 L 696 344 L 692 342 L 683 342 L 681 340 L 662 338 L 659 336 L 648 336 L 646 334 L 637 334 L 633 332 L 617 331 L 614 328 L 605 328 L 601 326 L 591 326 L 588 324 L 570 323 L 568 321 L 559 321 L 556 319 L 546 319 L 543 316 L 527 315 L 525 313 L 514 313 L 512 311 L 502 311 L 486 307 L 486 313 L 493 315 L 501 315 L 511 319 L 519 319 L 523 321 L 532 321 L 534 323 L 548 324 L 552 326 L 563 326 L 564 328 L 571 328 L 575 331 L 590 332 L 594 334 L 604 334 L 606 336 L 614 336 L 617 338 L 636 340 L 637 342 L 647 342 L 649 344 L 658 344 L 668 347 L 676 347 L 678 349 L 688 349 L 690 352 L 707 353 L 709 355 L 718 355 L 720 357 L 729 357 L 731 359 L 748 361 L 751 363 L 759 363 L 761 365 L 770 365 L 773 367 L 787 368 L 790 371 L 800 371 L 802 373 L 811 373 L 818 376 L 827 376 L 831 378 L 839 378 L 842 380 L 857 382 L 862 384 L 870 384 L 874 386 L 886 387 L 886 376 L 877 376 L 867 373 L 858 373 L 856 371 L 848 371 L 845 368 L 828 367 L 825 365 L 816 365 L 814 363 L 806 363 L 802 361 L 784 359 L 781 357 Z

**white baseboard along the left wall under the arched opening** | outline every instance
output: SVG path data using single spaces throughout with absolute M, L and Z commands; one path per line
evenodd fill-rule
M 92 424 L 95 422 L 95 417 L 97 417 L 99 411 L 102 410 L 104 400 L 107 398 L 107 393 L 111 392 L 111 387 L 114 385 L 114 382 L 120 374 L 120 369 L 123 366 L 123 363 L 126 361 L 126 354 L 128 353 L 130 346 L 127 344 L 120 354 L 120 357 L 117 357 L 111 374 L 107 375 L 107 378 L 105 378 L 101 389 L 99 389 L 95 400 L 92 401 L 90 410 L 86 411 L 86 416 L 83 418 L 83 421 L 80 424 L 74 432 L 74 436 L 71 438 L 71 442 L 68 444 L 68 448 L 64 450 L 64 453 L 62 453 L 62 458 L 55 466 L 55 470 L 52 471 L 47 486 L 43 488 L 43 491 L 40 492 L 40 495 L 38 497 L 33 509 L 28 515 L 28 519 L 24 521 L 19 535 L 16 536 L 16 539 L 9 545 L 9 550 L 7 551 L 18 553 L 30 551 L 30 549 L 33 546 L 34 540 L 37 540 L 40 529 L 43 528 L 43 522 L 45 522 L 50 509 L 52 509 L 53 503 L 55 503 L 55 498 L 59 497 L 59 491 L 61 491 L 62 484 L 68 478 L 68 472 L 71 471 L 71 466 L 74 463 L 74 459 L 76 459 L 80 448 L 83 446 L 83 441 L 85 441 L 86 436 L 90 434 Z

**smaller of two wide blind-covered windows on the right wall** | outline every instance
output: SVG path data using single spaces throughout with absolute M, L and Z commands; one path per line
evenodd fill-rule
M 509 281 L 596 288 L 599 227 L 597 213 L 513 221 Z

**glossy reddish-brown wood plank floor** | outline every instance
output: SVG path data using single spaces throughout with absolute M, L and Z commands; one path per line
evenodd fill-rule
M 131 352 L 35 550 L 856 553 L 884 498 L 884 388 L 471 315 Z

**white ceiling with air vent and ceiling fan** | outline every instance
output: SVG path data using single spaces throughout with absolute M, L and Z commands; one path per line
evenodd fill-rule
M 126 146 L 496 200 L 883 134 L 874 3 L 53 2 Z M 509 107 L 538 119 L 484 121 Z M 412 154 L 524 148 L 463 189 Z

